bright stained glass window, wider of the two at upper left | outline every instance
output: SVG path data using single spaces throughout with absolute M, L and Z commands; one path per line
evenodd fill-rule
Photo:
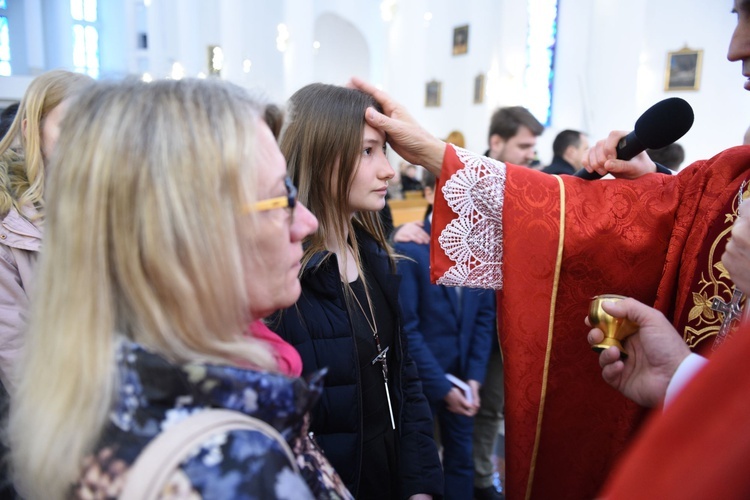
M 99 76 L 99 30 L 96 0 L 70 0 L 73 17 L 73 66 L 94 78 Z

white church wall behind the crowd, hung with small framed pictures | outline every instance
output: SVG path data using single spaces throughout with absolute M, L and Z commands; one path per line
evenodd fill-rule
M 552 118 L 538 146 L 542 162 L 550 161 L 560 130 L 580 129 L 600 139 L 612 129 L 631 129 L 641 112 L 670 96 L 688 100 L 696 114 L 693 129 L 680 141 L 686 162 L 739 143 L 750 125 L 750 96 L 742 88 L 740 64 L 726 60 L 736 19 L 729 13 L 731 2 L 725 3 L 722 8 L 705 0 L 560 0 Z M 396 0 L 390 21 L 381 18 L 377 0 L 100 4 L 103 76 L 148 70 L 163 78 L 175 62 L 186 76 L 197 76 L 208 70 L 208 45 L 221 45 L 222 77 L 277 102 L 312 81 L 342 83 L 358 74 L 389 91 L 435 135 L 460 130 L 467 147 L 479 152 L 486 149 L 492 112 L 527 99 L 524 1 Z M 19 98 L 30 76 L 72 66 L 67 0 L 9 0 L 9 5 L 23 6 L 23 50 L 16 54 L 24 71 L 0 78 L 3 100 Z M 145 9 L 145 21 L 139 8 Z M 428 21 L 426 12 L 432 14 Z M 285 52 L 276 47 L 280 23 L 290 31 Z M 148 31 L 146 50 L 137 47 L 140 24 Z M 465 24 L 468 51 L 454 56 L 453 29 Z M 316 39 L 322 44 L 317 53 Z M 685 45 L 704 51 L 700 89 L 666 92 L 667 53 Z M 486 75 L 485 97 L 475 104 L 473 82 L 480 73 Z M 425 84 L 433 79 L 442 84 L 442 102 L 426 107 Z

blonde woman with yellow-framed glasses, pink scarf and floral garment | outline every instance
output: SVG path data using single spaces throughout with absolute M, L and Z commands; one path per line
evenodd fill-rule
M 297 300 L 317 228 L 262 111 L 207 80 L 97 83 L 71 105 L 11 408 L 23 496 L 118 497 L 152 440 L 210 409 L 270 424 L 301 474 L 279 441 L 231 430 L 195 446 L 163 493 L 348 496 L 305 448 L 320 374 L 294 377 L 299 359 L 258 322 Z

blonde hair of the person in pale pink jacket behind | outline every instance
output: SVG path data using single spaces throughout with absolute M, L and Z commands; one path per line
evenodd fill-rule
M 44 210 L 44 160 L 42 127 L 47 115 L 65 99 L 91 84 L 91 77 L 65 70 L 53 70 L 34 78 L 18 105 L 16 117 L 0 140 L 0 214 L 11 207 L 21 213 L 24 205 Z M 26 121 L 26 133 L 23 123 Z M 23 158 L 10 149 L 21 145 Z M 49 160 L 49 158 L 47 158 Z

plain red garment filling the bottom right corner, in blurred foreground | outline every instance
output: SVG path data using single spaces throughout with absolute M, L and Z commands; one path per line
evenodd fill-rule
M 654 412 L 602 498 L 750 498 L 748 359 L 745 324 L 663 414 Z

